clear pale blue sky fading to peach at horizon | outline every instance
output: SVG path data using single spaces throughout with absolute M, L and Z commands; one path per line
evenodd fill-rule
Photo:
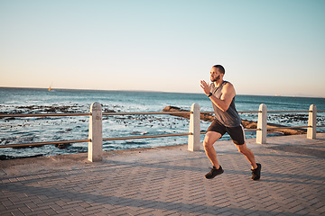
M 325 96 L 324 0 L 0 0 L 0 86 Z

